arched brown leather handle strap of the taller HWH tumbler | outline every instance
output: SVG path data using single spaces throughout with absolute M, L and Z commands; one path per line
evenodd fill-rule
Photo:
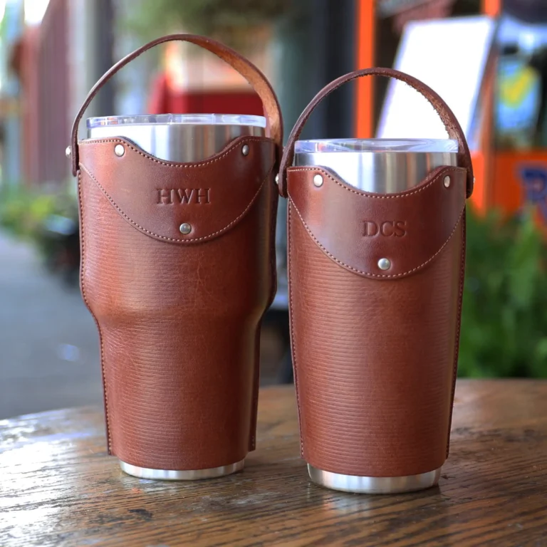
M 224 44 L 207 38 L 206 36 L 198 36 L 197 34 L 170 34 L 167 36 L 162 36 L 161 38 L 156 38 L 151 42 L 141 46 L 136 49 L 129 55 L 125 56 L 121 61 L 118 61 L 110 70 L 105 72 L 103 76 L 98 80 L 93 88 L 90 90 L 87 98 L 83 102 L 78 114 L 75 117 L 74 123 L 72 125 L 71 133 L 71 157 L 72 157 L 72 174 L 75 176 L 78 171 L 78 161 L 79 161 L 79 151 L 78 151 L 78 126 L 80 125 L 80 120 L 82 119 L 85 110 L 87 110 L 95 95 L 97 95 L 100 88 L 105 85 L 105 83 L 110 80 L 110 78 L 118 73 L 121 68 L 133 61 L 133 59 L 140 56 L 145 51 L 153 48 L 160 43 L 170 42 L 170 41 L 183 41 L 194 43 L 196 46 L 200 46 L 211 53 L 214 53 L 217 57 L 221 58 L 223 61 L 226 61 L 232 68 L 234 68 L 239 74 L 241 74 L 252 86 L 252 88 L 258 93 L 259 97 L 262 100 L 264 105 L 264 112 L 266 114 L 266 120 L 268 123 L 269 136 L 276 143 L 278 150 L 281 150 L 283 145 L 283 120 L 281 119 L 281 108 L 276 98 L 276 94 L 273 93 L 273 89 L 266 76 L 264 76 L 261 71 L 259 71 L 256 66 L 254 66 L 251 61 L 248 61 L 246 58 L 242 57 L 234 51 L 233 49 L 224 46 Z

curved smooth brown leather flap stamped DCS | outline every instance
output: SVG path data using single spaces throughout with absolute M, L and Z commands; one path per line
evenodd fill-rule
M 323 177 L 320 187 L 313 184 L 316 174 Z M 291 167 L 288 197 L 330 259 L 362 276 L 400 278 L 429 264 L 454 234 L 466 174 L 463 167 L 438 167 L 405 192 L 370 194 L 321 167 Z M 380 269 L 380 259 L 389 261 L 388 269 Z

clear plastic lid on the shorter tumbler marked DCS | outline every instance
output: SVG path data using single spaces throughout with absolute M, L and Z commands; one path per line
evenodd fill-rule
M 451 139 L 316 139 L 297 140 L 296 154 L 316 152 L 457 152 Z

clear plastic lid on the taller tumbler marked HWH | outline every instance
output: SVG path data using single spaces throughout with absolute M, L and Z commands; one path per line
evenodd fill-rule
M 150 124 L 191 124 L 191 125 L 251 125 L 266 127 L 264 116 L 241 114 L 146 114 L 138 116 L 104 116 L 88 118 L 88 129 L 105 125 L 150 125 Z

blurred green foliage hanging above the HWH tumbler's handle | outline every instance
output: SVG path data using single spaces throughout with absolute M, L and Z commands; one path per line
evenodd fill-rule
M 127 23 L 145 39 L 184 28 L 238 46 L 246 31 L 271 23 L 288 10 L 291 0 L 145 0 L 135 4 Z

